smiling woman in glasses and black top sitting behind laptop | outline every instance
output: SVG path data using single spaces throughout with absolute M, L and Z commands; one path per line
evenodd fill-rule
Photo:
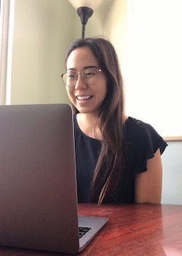
M 149 124 L 125 115 L 111 42 L 73 42 L 61 77 L 74 108 L 79 203 L 160 203 L 167 144 Z

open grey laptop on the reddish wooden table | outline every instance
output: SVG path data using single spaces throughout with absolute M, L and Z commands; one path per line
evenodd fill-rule
M 0 245 L 74 254 L 107 221 L 78 217 L 71 107 L 0 106 Z

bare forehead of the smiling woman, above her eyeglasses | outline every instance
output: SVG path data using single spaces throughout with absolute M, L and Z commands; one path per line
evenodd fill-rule
M 87 66 L 98 67 L 98 59 L 93 55 L 92 50 L 87 47 L 76 48 L 68 56 L 67 69 L 79 69 Z

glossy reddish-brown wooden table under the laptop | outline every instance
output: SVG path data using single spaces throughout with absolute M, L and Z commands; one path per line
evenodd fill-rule
M 182 255 L 182 206 L 81 204 L 79 214 L 109 218 L 98 236 L 79 253 L 80 256 Z M 60 254 L 0 247 L 0 255 Z

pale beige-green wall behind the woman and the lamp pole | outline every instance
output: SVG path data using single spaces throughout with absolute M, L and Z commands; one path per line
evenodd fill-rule
M 126 2 L 105 0 L 88 20 L 85 37 L 111 39 L 124 72 Z M 68 102 L 60 81 L 68 44 L 82 34 L 82 24 L 68 0 L 15 0 L 10 102 L 39 104 Z

